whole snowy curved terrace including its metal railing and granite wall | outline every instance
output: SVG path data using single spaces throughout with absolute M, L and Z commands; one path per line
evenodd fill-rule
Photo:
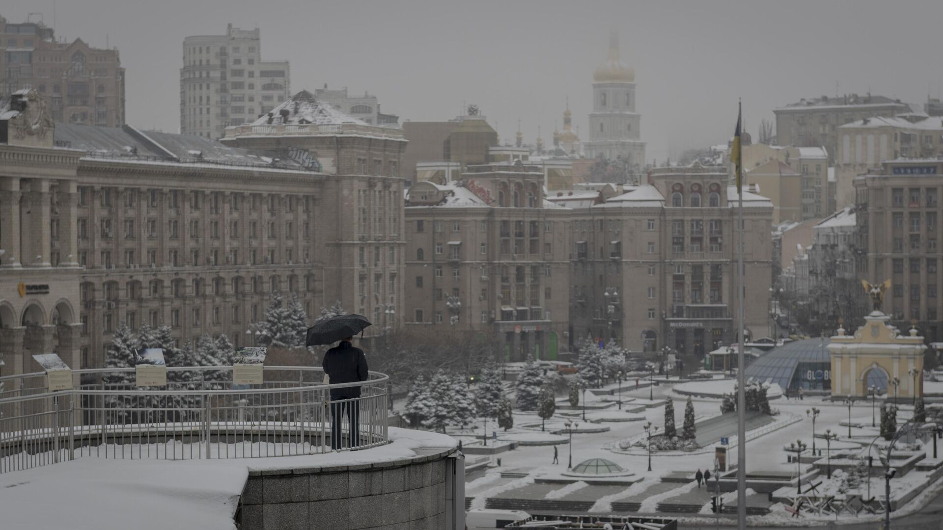
M 389 428 L 385 374 L 345 400 L 359 439 L 345 416 L 332 450 L 329 390 L 352 384 L 264 370 L 251 389 L 231 367 L 170 368 L 166 389 L 134 388 L 133 369 L 75 371 L 74 389 L 57 392 L 44 373 L 0 379 L 4 527 L 126 528 L 116 510 L 145 529 L 449 527 L 463 497 L 455 440 Z M 74 505 L 43 509 L 53 494 Z

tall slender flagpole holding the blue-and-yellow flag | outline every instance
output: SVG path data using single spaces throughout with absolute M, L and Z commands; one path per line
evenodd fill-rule
M 737 102 L 738 116 L 743 116 Z M 742 122 L 741 122 L 742 123 Z M 742 131 L 741 131 L 742 134 Z M 736 152 L 736 527 L 747 528 L 747 424 L 746 370 L 743 364 L 743 155 Z

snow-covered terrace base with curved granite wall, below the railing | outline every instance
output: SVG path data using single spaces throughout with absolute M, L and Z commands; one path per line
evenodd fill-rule
M 464 479 L 452 474 L 463 471 L 457 442 L 393 427 L 389 439 L 324 455 L 84 456 L 0 475 L 0 513 L 4 528 L 232 530 L 234 518 L 246 530 L 448 528 L 449 503 L 464 507 Z

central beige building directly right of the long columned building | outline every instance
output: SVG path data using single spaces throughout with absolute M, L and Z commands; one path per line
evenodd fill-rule
M 568 349 L 570 209 L 544 200 L 543 179 L 520 159 L 492 161 L 409 189 L 405 326 L 498 340 L 508 360 Z

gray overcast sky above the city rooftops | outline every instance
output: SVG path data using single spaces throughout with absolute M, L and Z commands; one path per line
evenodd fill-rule
M 6 0 L 21 22 L 54 0 Z M 261 28 L 263 58 L 291 61 L 291 90 L 328 83 L 375 93 L 401 121 L 447 120 L 476 103 L 511 140 L 538 125 L 551 142 L 570 96 L 587 139 L 592 73 L 610 27 L 636 70 L 648 159 L 726 141 L 742 96 L 754 136 L 771 109 L 857 92 L 923 103 L 943 83 L 943 2 L 310 2 L 58 0 L 56 31 L 121 51 L 130 124 L 176 131 L 179 68 L 189 35 L 227 23 Z

